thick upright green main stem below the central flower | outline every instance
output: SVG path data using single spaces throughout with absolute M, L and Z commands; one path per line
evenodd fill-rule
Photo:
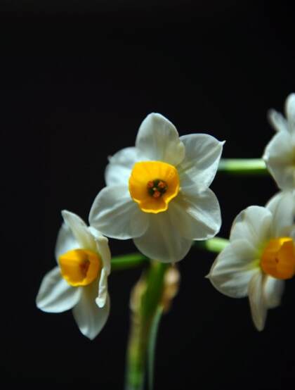
M 125 390 L 143 390 L 152 323 L 161 305 L 167 264 L 152 262 L 136 285 L 126 356 Z M 135 301 L 135 302 L 134 302 Z

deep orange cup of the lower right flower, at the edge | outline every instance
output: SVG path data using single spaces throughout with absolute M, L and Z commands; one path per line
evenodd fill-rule
M 261 256 L 261 268 L 263 272 L 277 279 L 291 279 L 295 275 L 293 239 L 270 239 Z

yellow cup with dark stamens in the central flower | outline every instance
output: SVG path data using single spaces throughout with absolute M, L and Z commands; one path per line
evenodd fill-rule
M 162 161 L 142 161 L 133 166 L 129 192 L 145 213 L 166 211 L 179 192 L 179 176 L 173 165 Z

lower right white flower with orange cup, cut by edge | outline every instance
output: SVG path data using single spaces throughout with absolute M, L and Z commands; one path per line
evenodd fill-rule
M 295 274 L 295 196 L 277 194 L 265 207 L 250 206 L 232 225 L 230 244 L 218 255 L 209 279 L 232 298 L 249 296 L 251 315 L 262 330 L 268 308 L 280 305 L 284 279 Z

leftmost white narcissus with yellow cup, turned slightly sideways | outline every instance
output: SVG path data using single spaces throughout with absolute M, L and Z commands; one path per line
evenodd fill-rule
M 110 312 L 107 277 L 110 275 L 108 240 L 73 213 L 62 212 L 65 222 L 55 247 L 58 266 L 41 282 L 36 303 L 48 313 L 72 309 L 84 336 L 94 339 Z

